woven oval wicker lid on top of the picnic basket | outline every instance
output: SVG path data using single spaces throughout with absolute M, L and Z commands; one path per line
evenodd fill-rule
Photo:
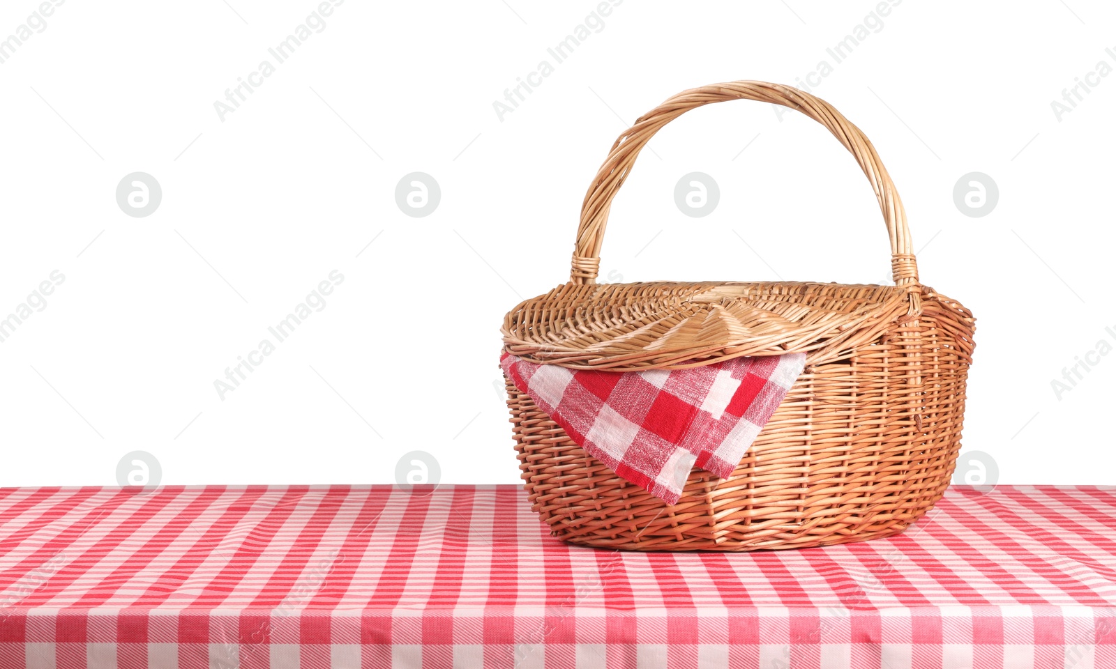
M 825 352 L 906 320 L 904 289 L 838 283 L 566 283 L 504 318 L 504 350 L 625 371 Z M 873 327 L 877 326 L 877 327 Z

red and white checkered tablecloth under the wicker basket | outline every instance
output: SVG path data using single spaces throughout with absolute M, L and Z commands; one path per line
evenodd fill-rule
M 1114 570 L 1113 487 L 740 554 L 569 546 L 517 486 L 3 488 L 0 668 L 1105 669 Z

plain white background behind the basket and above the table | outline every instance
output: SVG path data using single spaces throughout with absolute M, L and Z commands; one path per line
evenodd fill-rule
M 214 101 L 317 2 L 65 2 L 0 65 L 0 318 L 65 275 L 0 343 L 0 485 L 113 485 L 132 450 L 164 484 L 391 483 L 411 450 L 443 482 L 518 482 L 498 329 L 566 280 L 613 139 L 684 88 L 809 85 L 821 60 L 833 72 L 814 91 L 886 162 L 923 281 L 979 319 L 965 450 L 1000 483 L 1116 483 L 1116 355 L 1060 398 L 1051 387 L 1116 343 L 1116 74 L 1060 120 L 1051 109 L 1098 61 L 1116 66 L 1116 8 L 1067 2 L 906 0 L 835 65 L 827 48 L 876 2 L 628 0 L 502 120 L 493 101 L 597 2 L 348 0 L 223 120 Z M 37 7 L 4 2 L 0 39 Z M 673 201 L 694 171 L 721 188 L 703 219 Z M 150 216 L 116 203 L 132 172 L 162 186 Z M 440 184 L 426 217 L 396 205 L 411 172 Z M 970 172 L 999 186 L 987 216 L 954 205 Z M 759 103 L 698 109 L 652 142 L 602 266 L 624 281 L 889 277 L 852 157 Z M 214 380 L 333 270 L 327 306 L 222 400 Z

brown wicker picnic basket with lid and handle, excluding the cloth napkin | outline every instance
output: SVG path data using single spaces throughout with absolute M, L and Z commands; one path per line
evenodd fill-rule
M 856 157 L 887 223 L 896 285 L 596 283 L 609 205 L 639 149 L 686 110 L 738 98 L 797 109 Z M 887 171 L 829 104 L 761 81 L 683 91 L 617 138 L 585 197 L 569 282 L 508 313 L 504 350 L 612 371 L 802 351 L 806 369 L 733 475 L 691 472 L 674 505 L 616 476 L 509 381 L 532 506 L 565 541 L 642 551 L 793 549 L 902 532 L 950 483 L 973 322 L 920 283 Z

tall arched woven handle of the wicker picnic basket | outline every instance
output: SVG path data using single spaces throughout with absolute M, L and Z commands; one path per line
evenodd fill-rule
M 616 192 L 632 172 L 635 158 L 644 145 L 661 127 L 690 109 L 734 99 L 759 100 L 797 109 L 826 126 L 845 145 L 872 182 L 872 188 L 879 201 L 879 209 L 887 224 L 887 235 L 892 242 L 892 278 L 896 285 L 906 288 L 911 299 L 910 313 L 921 311 L 918 269 L 911 251 L 911 231 L 907 229 L 906 213 L 903 211 L 899 194 L 895 191 L 895 184 L 892 183 L 892 177 L 872 143 L 860 128 L 849 123 L 829 103 L 797 88 L 766 81 L 732 81 L 683 90 L 641 116 L 634 126 L 616 138 L 581 204 L 581 222 L 577 229 L 570 282 L 596 283 L 600 266 L 600 243 L 605 235 L 605 224 L 608 222 L 608 210 Z

